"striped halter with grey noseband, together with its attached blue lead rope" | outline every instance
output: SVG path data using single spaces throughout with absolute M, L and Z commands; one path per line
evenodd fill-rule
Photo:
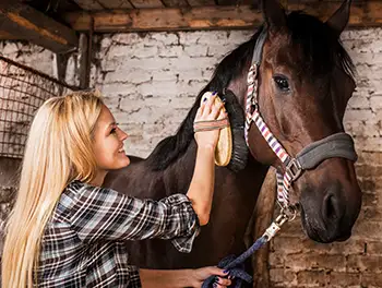
M 357 160 L 353 139 L 349 134 L 343 132 L 335 133 L 309 144 L 302 151 L 300 151 L 295 158 L 286 152 L 283 145 L 272 134 L 271 130 L 260 115 L 258 103 L 258 72 L 265 38 L 266 31 L 263 29 L 254 46 L 252 63 L 248 72 L 244 137 L 247 146 L 249 147 L 248 133 L 251 123 L 254 122 L 266 143 L 285 167 L 284 175 L 279 170 L 276 170 L 277 202 L 282 207 L 282 213 L 247 251 L 236 259 L 226 257 L 218 264 L 218 267 L 229 271 L 230 276 L 235 276 L 237 280 L 239 279 L 239 284 L 236 287 L 241 287 L 240 285 L 242 280 L 248 283 L 252 280 L 252 277 L 248 275 L 242 267 L 240 267 L 240 265 L 242 265 L 242 263 L 244 263 L 244 261 L 249 259 L 254 251 L 259 250 L 262 245 L 270 241 L 278 232 L 284 223 L 295 218 L 297 208 L 290 205 L 289 189 L 293 182 L 300 177 L 301 172 L 303 170 L 313 169 L 323 160 L 333 157 L 342 157 L 353 161 Z M 210 287 L 214 280 L 214 276 L 208 277 L 206 280 L 204 280 L 202 287 Z

